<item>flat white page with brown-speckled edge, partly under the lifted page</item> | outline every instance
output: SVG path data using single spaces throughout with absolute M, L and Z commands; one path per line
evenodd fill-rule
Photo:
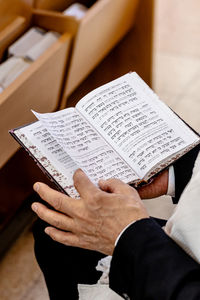
M 73 186 L 73 174 L 78 166 L 43 124 L 40 121 L 35 122 L 15 130 L 15 134 L 60 186 L 71 197 L 77 197 L 78 193 Z

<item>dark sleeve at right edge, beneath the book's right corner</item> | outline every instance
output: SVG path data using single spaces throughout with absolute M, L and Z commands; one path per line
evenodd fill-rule
M 178 202 L 185 186 L 192 176 L 192 169 L 194 167 L 194 163 L 199 151 L 200 145 L 196 146 L 187 154 L 182 156 L 173 165 L 175 174 L 175 197 L 173 198 L 174 203 Z

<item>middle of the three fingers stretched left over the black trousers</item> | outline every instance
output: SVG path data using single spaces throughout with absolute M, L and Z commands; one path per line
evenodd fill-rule
M 31 207 L 32 210 L 38 215 L 38 217 L 48 224 L 62 230 L 75 230 L 75 223 L 72 218 L 49 209 L 41 203 L 35 202 Z

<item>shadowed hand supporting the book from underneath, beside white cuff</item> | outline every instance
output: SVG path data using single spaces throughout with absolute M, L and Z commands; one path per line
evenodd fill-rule
M 167 169 L 156 176 L 150 184 L 138 188 L 137 191 L 141 199 L 151 199 L 166 195 L 168 189 L 168 173 L 169 170 Z

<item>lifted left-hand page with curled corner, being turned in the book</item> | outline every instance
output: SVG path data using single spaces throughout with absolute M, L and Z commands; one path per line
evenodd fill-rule
M 101 178 L 115 177 L 124 182 L 138 179 L 135 172 L 76 109 L 34 114 L 95 184 Z

